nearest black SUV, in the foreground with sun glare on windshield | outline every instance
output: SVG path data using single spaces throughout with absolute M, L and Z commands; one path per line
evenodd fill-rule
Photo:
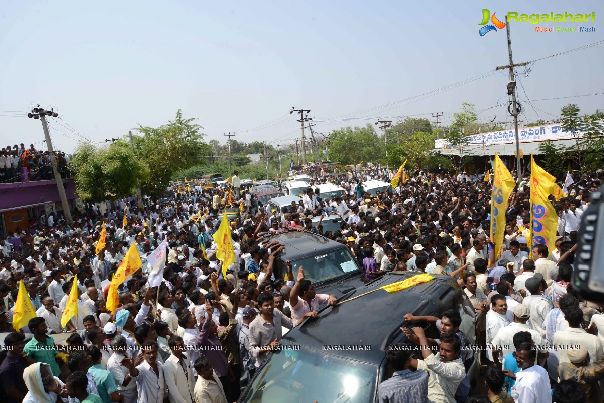
M 388 273 L 342 300 L 414 274 Z M 327 306 L 281 338 L 283 348 L 263 362 L 237 402 L 378 402 L 377 385 L 394 372 L 387 366 L 385 351 L 391 344 L 407 341 L 400 327 L 411 324 L 403 316 L 440 317 L 461 304 L 455 279 L 434 276 L 397 293 L 377 290 L 335 308 Z M 438 334 L 435 325 L 426 328 L 428 337 Z M 419 351 L 416 355 L 421 357 Z

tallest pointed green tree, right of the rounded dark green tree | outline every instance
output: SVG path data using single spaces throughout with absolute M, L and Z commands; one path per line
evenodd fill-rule
M 141 185 L 143 194 L 155 195 L 164 191 L 178 171 L 204 162 L 211 153 L 210 145 L 199 133 L 203 129 L 197 119 L 184 119 L 179 109 L 176 118 L 159 127 L 138 126 L 142 136 L 135 136 L 137 154 L 150 168 L 150 178 Z M 227 162 L 228 163 L 228 162 Z

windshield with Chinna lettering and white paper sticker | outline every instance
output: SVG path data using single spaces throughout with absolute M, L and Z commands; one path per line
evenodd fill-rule
M 304 278 L 310 280 L 313 284 L 360 270 L 349 248 L 292 261 L 294 273 L 298 273 L 300 266 L 304 266 Z

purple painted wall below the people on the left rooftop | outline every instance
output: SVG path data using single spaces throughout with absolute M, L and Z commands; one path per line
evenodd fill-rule
M 71 179 L 63 179 L 67 200 L 76 199 L 76 185 Z M 61 208 L 59 189 L 54 180 L 38 180 L 35 182 L 5 183 L 0 185 L 0 209 L 19 208 L 19 206 L 57 203 Z M 72 206 L 73 203 L 69 203 Z

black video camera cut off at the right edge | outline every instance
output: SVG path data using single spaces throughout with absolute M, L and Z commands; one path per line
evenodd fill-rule
M 576 250 L 573 286 L 582 298 L 604 302 L 604 187 L 591 194 L 583 213 Z

